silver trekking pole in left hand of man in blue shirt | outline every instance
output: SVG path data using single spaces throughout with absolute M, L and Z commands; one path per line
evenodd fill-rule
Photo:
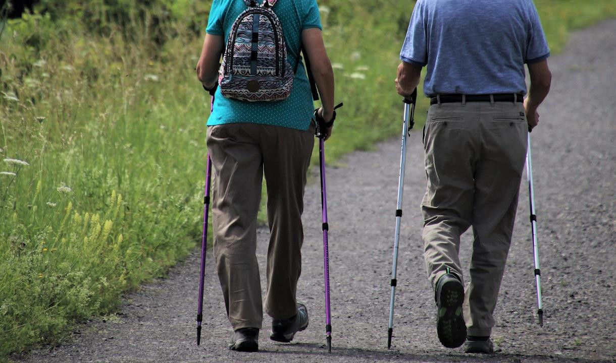
M 387 329 L 387 349 L 391 348 L 391 337 L 394 332 L 394 299 L 397 285 L 396 273 L 398 264 L 398 244 L 400 242 L 400 222 L 402 221 L 402 191 L 404 188 L 404 170 L 407 165 L 407 137 L 413 128 L 417 89 L 404 98 L 404 116 L 402 126 L 402 152 L 400 155 L 400 174 L 398 175 L 398 204 L 395 209 L 394 264 L 391 269 L 391 301 L 389 303 L 389 329 Z

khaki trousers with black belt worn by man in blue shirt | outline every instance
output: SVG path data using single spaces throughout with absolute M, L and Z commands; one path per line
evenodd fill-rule
M 472 226 L 468 335 L 488 336 L 494 325 L 526 156 L 524 115 L 519 102 L 442 103 L 428 111 L 424 258 L 433 287 L 447 268 L 462 279 L 460 235 Z

